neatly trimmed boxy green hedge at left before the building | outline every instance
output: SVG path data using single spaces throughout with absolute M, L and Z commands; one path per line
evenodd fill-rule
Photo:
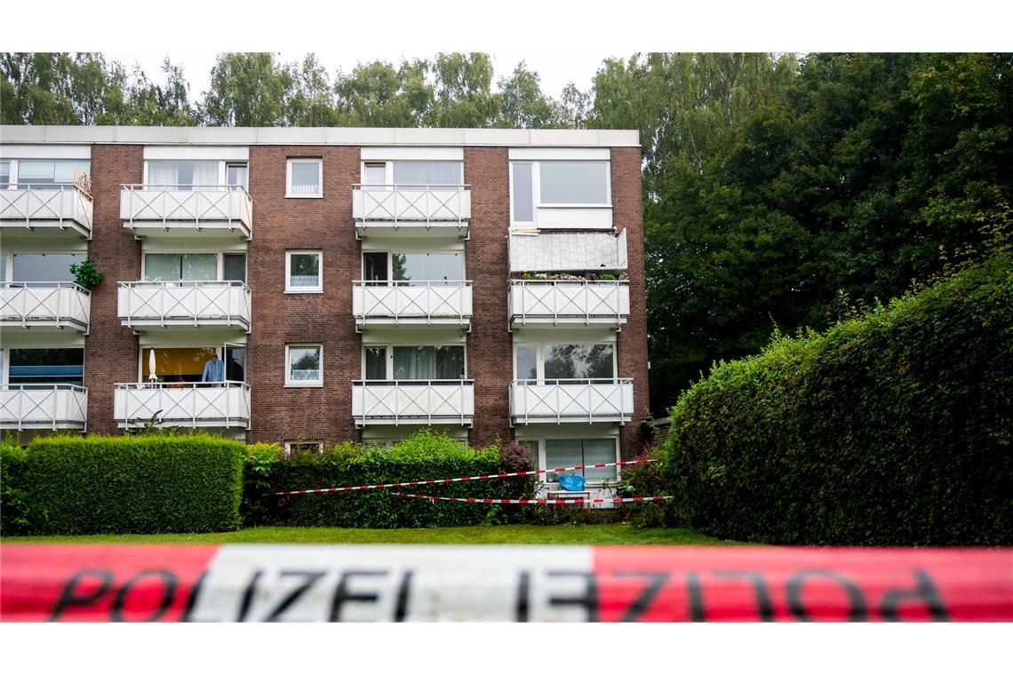
M 51 436 L 21 483 L 33 533 L 206 532 L 238 527 L 242 471 L 243 444 L 207 434 Z

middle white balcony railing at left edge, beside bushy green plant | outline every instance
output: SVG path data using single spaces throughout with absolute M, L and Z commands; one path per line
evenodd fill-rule
M 88 332 L 91 292 L 62 281 L 0 283 L 0 326 L 3 328 L 71 328 Z

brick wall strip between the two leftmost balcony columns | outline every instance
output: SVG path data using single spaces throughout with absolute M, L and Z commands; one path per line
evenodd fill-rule
M 116 282 L 141 278 L 141 243 L 120 220 L 123 183 L 144 180 L 142 146 L 93 145 L 92 238 L 88 254 L 105 275 L 91 291 L 91 323 L 84 340 L 84 385 L 88 388 L 88 431 L 111 433 L 113 386 L 137 379 L 138 342 L 116 317 Z

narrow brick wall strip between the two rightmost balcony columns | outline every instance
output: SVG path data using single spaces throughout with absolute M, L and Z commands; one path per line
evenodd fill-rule
M 473 292 L 468 376 L 475 379 L 475 425 L 468 440 L 481 447 L 497 436 L 502 440 L 514 438 L 509 400 L 514 378 L 514 341 L 506 331 L 510 274 L 506 149 L 465 148 L 464 181 L 471 185 L 471 237 L 464 255 Z

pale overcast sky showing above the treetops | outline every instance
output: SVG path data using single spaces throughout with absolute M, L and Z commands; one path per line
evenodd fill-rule
M 159 70 L 166 56 L 172 63 L 181 66 L 190 84 L 190 99 L 201 97 L 201 92 L 208 89 L 211 82 L 211 69 L 215 65 L 216 52 L 104 52 L 106 58 L 121 62 L 128 71 L 135 63 L 149 78 L 161 81 Z M 304 53 L 280 52 L 282 61 L 302 61 Z M 375 54 L 349 54 L 347 52 L 315 51 L 320 63 L 327 69 L 333 81 L 334 71 L 340 68 L 343 72 L 352 71 L 359 63 L 368 63 L 378 59 L 397 65 L 403 59 L 432 58 L 434 53 L 415 54 L 399 52 L 377 52 Z M 611 56 L 628 56 L 625 54 L 567 52 L 491 52 L 493 66 L 493 86 L 500 77 L 509 75 L 522 60 L 528 67 L 537 72 L 542 79 L 542 91 L 555 98 L 568 82 L 587 91 L 591 88 L 591 80 L 598 71 L 602 61 Z

